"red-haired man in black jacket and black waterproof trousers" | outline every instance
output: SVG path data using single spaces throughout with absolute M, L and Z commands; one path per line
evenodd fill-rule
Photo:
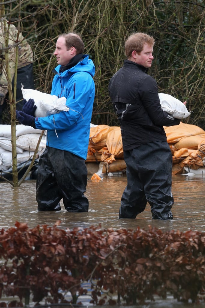
M 154 43 L 145 33 L 131 34 L 125 42 L 127 60 L 108 87 L 127 165 L 119 218 L 135 218 L 148 202 L 152 219 L 173 219 L 172 154 L 163 126 L 179 125 L 180 120 L 162 110 L 157 83 L 147 74 Z

